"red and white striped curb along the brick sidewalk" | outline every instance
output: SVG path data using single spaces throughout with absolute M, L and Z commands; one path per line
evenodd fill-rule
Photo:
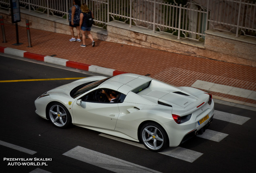
M 39 60 L 39 61 L 43 61 L 43 62 L 47 62 L 47 63 L 51 63 L 51 64 L 57 64 L 60 66 L 66 66 L 66 67 L 76 68 L 76 69 L 85 70 L 85 71 L 89 71 L 89 72 L 104 74 L 107 76 L 116 76 L 118 74 L 126 73 L 126 72 L 122 72 L 119 70 L 104 68 L 104 67 L 95 66 L 95 65 L 83 64 L 81 62 L 75 62 L 72 60 L 61 59 L 61 58 L 56 58 L 56 57 L 52 57 L 52 56 L 35 54 L 35 53 L 27 52 L 24 50 L 14 49 L 14 48 L 6 48 L 6 47 L 0 46 L 0 52 L 5 53 L 5 54 L 14 55 L 14 56 L 23 57 L 23 58 Z

